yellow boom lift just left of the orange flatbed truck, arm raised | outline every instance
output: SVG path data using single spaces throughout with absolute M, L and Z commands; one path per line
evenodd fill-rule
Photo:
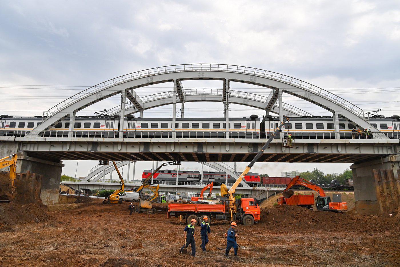
M 153 194 L 150 195 L 146 200 L 140 199 L 139 201 L 139 206 L 134 207 L 134 212 L 135 213 L 141 213 L 141 212 L 146 212 L 147 214 L 153 214 L 156 209 L 153 208 L 152 201 L 157 199 L 158 197 L 158 190 L 160 189 L 160 185 L 154 186 L 154 185 L 149 185 L 148 181 L 153 177 L 155 173 L 160 171 L 160 169 L 164 166 L 168 165 L 180 165 L 179 161 L 171 161 L 167 163 L 162 163 L 156 170 L 153 171 L 152 174 L 150 174 L 142 183 L 142 185 L 136 190 L 136 192 L 140 193 L 144 188 L 149 189 Z

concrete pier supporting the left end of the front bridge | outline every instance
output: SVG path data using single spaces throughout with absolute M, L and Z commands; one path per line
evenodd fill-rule
M 27 173 L 29 171 L 43 176 L 40 187 L 40 200 L 44 205 L 58 203 L 62 167 L 64 167 L 62 161 L 55 162 L 38 159 L 29 157 L 25 152 L 18 152 L 17 173 Z

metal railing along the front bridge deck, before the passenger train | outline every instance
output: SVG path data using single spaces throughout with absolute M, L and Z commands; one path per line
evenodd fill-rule
M 0 137 L 13 136 L 25 137 L 30 132 L 29 130 L 1 130 Z M 66 131 L 66 130 L 48 130 L 37 132 L 38 137 L 43 138 L 172 138 L 172 131 L 128 131 L 121 134 L 118 131 Z M 288 131 L 281 132 L 276 135 L 276 138 L 287 138 L 288 133 L 292 135 L 293 139 L 336 139 L 336 132 L 334 131 L 318 131 L 318 132 L 300 132 Z M 265 139 L 270 137 L 271 132 L 233 132 L 233 131 L 177 131 L 176 138 L 178 139 Z M 400 132 L 338 132 L 340 139 L 400 139 Z M 37 137 L 36 137 L 37 138 Z

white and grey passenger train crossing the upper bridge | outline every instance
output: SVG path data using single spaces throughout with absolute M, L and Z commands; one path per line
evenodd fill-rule
M 42 122 L 40 117 L 0 116 L 0 136 L 24 136 L 26 132 Z M 370 118 L 370 123 L 391 139 L 400 138 L 400 118 Z M 73 137 L 119 137 L 120 120 L 118 116 L 90 117 L 77 116 L 73 127 Z M 269 138 L 279 124 L 279 117 L 270 115 L 262 119 L 256 115 L 247 118 L 229 118 L 229 138 Z M 351 139 L 351 131 L 356 128 L 344 119 L 339 119 L 341 139 Z M 41 132 L 44 137 L 67 137 L 70 130 L 69 118 L 55 124 L 50 130 Z M 124 119 L 124 138 L 172 138 L 172 118 Z M 176 118 L 177 138 L 224 138 L 226 137 L 225 118 Z M 290 118 L 285 123 L 285 134 L 291 133 L 295 139 L 334 139 L 332 117 L 307 116 Z M 277 138 L 280 136 L 277 135 Z

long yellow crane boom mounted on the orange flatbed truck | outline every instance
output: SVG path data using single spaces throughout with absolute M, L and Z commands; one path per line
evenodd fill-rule
M 285 118 L 287 121 L 289 121 L 289 118 Z M 236 180 L 236 182 L 232 185 L 232 187 L 228 190 L 226 188 L 225 184 L 221 185 L 221 196 L 224 197 L 225 195 L 228 195 L 228 199 L 229 199 L 229 211 L 230 211 L 230 218 L 231 221 L 233 221 L 234 218 L 234 214 L 237 213 L 237 207 L 236 207 L 236 203 L 235 203 L 235 190 L 236 187 L 238 187 L 239 183 L 243 180 L 243 178 L 247 175 L 247 173 L 250 171 L 251 167 L 253 167 L 254 163 L 256 163 L 256 161 L 261 157 L 262 153 L 264 153 L 264 150 L 266 150 L 266 148 L 268 147 L 268 145 L 270 145 L 270 143 L 272 142 L 272 139 L 274 139 L 274 137 L 276 137 L 276 135 L 278 134 L 278 132 L 281 132 L 282 130 L 282 126 L 284 125 L 284 122 L 282 121 L 279 125 L 279 127 L 276 127 L 276 130 L 274 133 L 271 134 L 270 138 L 268 139 L 267 143 L 264 144 L 264 146 L 262 146 L 261 150 L 258 151 L 257 155 L 254 157 L 254 159 L 250 162 L 249 165 L 247 165 L 247 167 L 244 169 L 243 173 L 239 176 L 239 178 Z M 258 208 L 259 209 L 259 208 Z M 259 213 L 259 211 L 258 211 Z

